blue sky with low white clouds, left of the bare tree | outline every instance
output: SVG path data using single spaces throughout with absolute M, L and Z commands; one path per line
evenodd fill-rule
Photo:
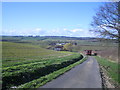
M 90 22 L 101 2 L 3 2 L 0 35 L 93 37 Z

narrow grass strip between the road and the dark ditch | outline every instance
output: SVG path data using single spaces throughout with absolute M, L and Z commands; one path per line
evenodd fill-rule
M 43 86 L 47 82 L 57 78 L 58 76 L 62 75 L 63 73 L 69 71 L 70 69 L 72 69 L 76 65 L 79 65 L 79 64 L 83 63 L 86 59 L 87 58 L 84 57 L 82 60 L 79 60 L 78 62 L 76 62 L 74 64 L 71 64 L 71 65 L 69 65 L 65 68 L 54 71 L 53 73 L 50 73 L 50 74 L 48 74 L 46 76 L 43 76 L 39 79 L 36 79 L 36 80 L 31 81 L 31 82 L 22 84 L 22 85 L 18 86 L 17 88 L 39 88 L 40 86 Z

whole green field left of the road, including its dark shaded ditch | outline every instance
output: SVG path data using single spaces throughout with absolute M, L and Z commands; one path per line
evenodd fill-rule
M 22 43 L 0 43 L 3 89 L 31 82 L 82 59 L 79 53 L 57 52 Z

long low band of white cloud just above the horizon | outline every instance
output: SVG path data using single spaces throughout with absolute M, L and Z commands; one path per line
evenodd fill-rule
M 93 36 L 87 29 L 77 28 L 77 27 L 65 27 L 65 28 L 32 28 L 32 29 L 11 29 L 4 30 L 2 35 L 33 35 L 33 36 L 71 36 L 71 37 L 89 37 Z

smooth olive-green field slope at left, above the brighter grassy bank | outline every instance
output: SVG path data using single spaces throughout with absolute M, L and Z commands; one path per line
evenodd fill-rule
M 13 64 L 14 62 L 25 62 L 32 60 L 48 59 L 53 57 L 64 57 L 70 53 L 61 53 L 43 49 L 37 45 L 20 44 L 12 42 L 2 43 L 3 65 Z

